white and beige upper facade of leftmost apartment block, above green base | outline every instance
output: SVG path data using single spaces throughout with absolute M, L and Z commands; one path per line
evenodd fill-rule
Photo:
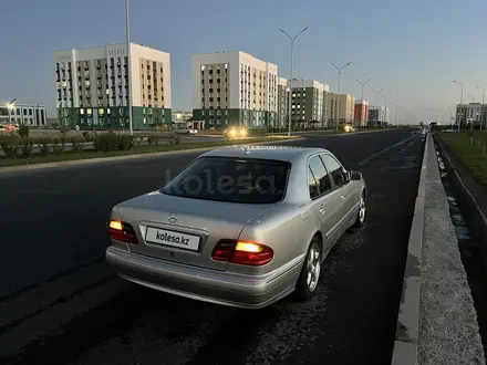
M 132 106 L 170 108 L 169 54 L 131 43 L 127 45 L 54 53 L 59 108 L 126 106 L 132 83 Z

